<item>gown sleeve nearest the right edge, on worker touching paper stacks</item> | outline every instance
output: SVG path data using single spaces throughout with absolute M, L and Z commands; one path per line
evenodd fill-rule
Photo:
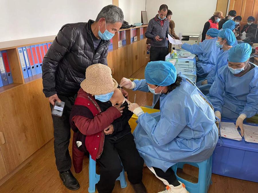
M 257 76 L 255 74 L 254 76 Z M 253 117 L 256 115 L 258 109 L 258 82 L 257 78 L 253 78 L 249 86 L 251 87 L 250 93 L 247 95 L 247 102 L 243 111 L 240 114 L 245 114 L 247 118 Z

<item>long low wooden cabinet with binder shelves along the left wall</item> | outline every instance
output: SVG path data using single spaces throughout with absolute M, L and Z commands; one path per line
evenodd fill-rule
M 118 48 L 118 32 L 115 33 L 112 39 L 113 49 L 108 51 L 107 62 L 112 76 L 118 82 L 122 77 L 131 76 L 149 61 L 144 36 L 146 28 L 147 25 L 120 29 L 119 31 L 126 31 L 126 44 L 121 48 Z M 130 41 L 130 29 L 136 29 L 136 42 Z M 17 48 L 52 42 L 55 37 L 0 42 L 0 51 L 7 50 L 13 76 L 12 84 L 0 87 L 0 184 L 53 138 L 51 109 L 42 92 L 42 74 L 23 77 Z

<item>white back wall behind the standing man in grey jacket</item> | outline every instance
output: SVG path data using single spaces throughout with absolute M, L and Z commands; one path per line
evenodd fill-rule
M 175 21 L 175 33 L 199 34 L 204 23 L 216 10 L 217 0 L 147 0 L 148 20 L 158 14 L 160 5 L 166 4 L 173 12 L 172 20 Z

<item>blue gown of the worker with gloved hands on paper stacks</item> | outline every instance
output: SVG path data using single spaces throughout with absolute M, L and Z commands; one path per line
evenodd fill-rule
M 207 97 L 224 118 L 237 119 L 240 114 L 253 117 L 258 113 L 258 67 L 241 77 L 234 76 L 228 66 L 222 67 Z

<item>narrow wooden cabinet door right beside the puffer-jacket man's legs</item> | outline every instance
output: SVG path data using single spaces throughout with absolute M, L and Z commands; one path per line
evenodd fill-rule
M 28 82 L 26 88 L 40 148 L 54 137 L 51 109 L 48 99 L 42 92 L 43 84 L 41 78 Z

